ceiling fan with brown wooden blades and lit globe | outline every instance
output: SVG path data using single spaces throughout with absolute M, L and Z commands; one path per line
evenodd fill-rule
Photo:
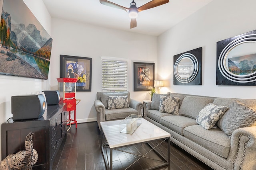
M 137 8 L 136 3 L 134 2 L 134 0 L 132 0 L 132 2 L 130 3 L 130 8 L 126 8 L 126 7 L 120 6 L 118 4 L 115 4 L 113 2 L 110 2 L 108 0 L 100 0 L 100 3 L 103 5 L 110 6 L 113 8 L 118 8 L 118 9 L 125 10 L 126 12 L 128 12 L 129 17 L 131 18 L 131 25 L 130 25 L 131 29 L 137 26 L 136 17 L 138 16 L 138 12 L 166 4 L 168 2 L 169 2 L 169 0 L 152 0 L 152 1 Z

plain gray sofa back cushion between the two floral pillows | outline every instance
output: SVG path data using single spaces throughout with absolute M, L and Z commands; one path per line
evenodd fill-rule
M 212 98 L 200 96 L 186 96 L 180 106 L 180 115 L 196 119 L 200 110 L 202 110 L 207 104 L 212 102 Z

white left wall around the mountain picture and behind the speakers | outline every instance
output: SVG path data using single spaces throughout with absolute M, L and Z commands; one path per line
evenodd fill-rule
M 3 1 L 1 0 L 0 4 L 2 4 L 2 2 Z M 42 0 L 24 0 L 24 2 L 41 25 L 43 25 L 44 29 L 51 35 L 51 16 L 46 10 Z M 48 90 L 48 80 L 0 74 L 0 89 L 0 124 L 2 124 L 6 122 L 8 118 L 12 117 L 11 96 L 20 94 L 38 94 L 41 93 L 42 90 Z

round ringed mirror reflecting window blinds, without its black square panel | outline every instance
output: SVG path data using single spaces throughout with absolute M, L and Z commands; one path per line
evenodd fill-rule
M 194 80 L 198 73 L 198 61 L 190 53 L 181 55 L 174 64 L 174 76 L 179 82 L 188 83 Z

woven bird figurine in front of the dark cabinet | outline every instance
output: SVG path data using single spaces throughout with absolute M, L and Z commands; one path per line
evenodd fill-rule
M 32 170 L 32 166 L 38 159 L 37 151 L 33 149 L 33 135 L 34 133 L 30 132 L 26 136 L 26 150 L 9 154 L 0 162 L 0 170 Z

